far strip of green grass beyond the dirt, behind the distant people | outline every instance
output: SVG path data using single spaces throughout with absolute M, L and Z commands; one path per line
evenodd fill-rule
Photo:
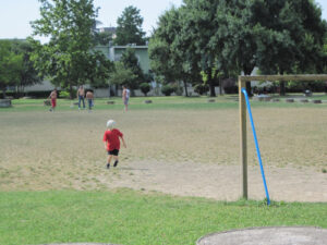
M 288 97 L 299 97 L 301 95 L 294 94 L 289 95 Z M 302 103 L 302 102 L 293 102 L 288 103 L 284 102 L 286 97 L 278 97 L 281 101 L 279 102 L 264 102 L 264 101 L 251 101 L 253 107 L 267 107 L 267 108 L 300 108 L 300 107 L 324 107 L 326 108 L 326 102 L 323 105 L 314 105 L 312 102 Z M 327 95 L 317 94 L 314 97 L 310 97 L 312 99 L 322 99 L 327 101 Z M 114 101 L 114 105 L 107 105 L 108 100 Z M 145 103 L 145 100 L 153 100 L 153 103 Z M 225 95 L 217 96 L 215 98 L 215 102 L 208 102 L 208 97 L 183 97 L 183 96 L 172 96 L 172 97 L 133 97 L 130 99 L 130 109 L 131 110 L 161 110 L 161 109 L 182 109 L 182 110 L 211 110 L 211 109 L 238 109 L 239 102 L 238 95 Z M 73 102 L 77 100 L 69 100 L 69 99 L 58 99 L 58 111 L 69 111 L 76 110 L 76 106 L 71 107 Z M 44 99 L 14 99 L 12 100 L 12 108 L 1 108 L 1 111 L 47 111 L 49 107 L 45 107 Z M 121 98 L 101 98 L 95 100 L 95 110 L 122 110 L 123 103 Z

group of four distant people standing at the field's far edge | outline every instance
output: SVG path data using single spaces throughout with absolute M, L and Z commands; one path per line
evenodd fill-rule
M 58 91 L 57 88 L 55 88 L 50 95 L 49 99 L 51 99 L 51 108 L 50 111 L 55 111 L 57 107 L 57 97 L 58 97 Z M 83 86 L 80 86 L 77 89 L 77 99 L 78 99 L 78 110 L 81 110 L 81 102 L 83 103 L 83 109 L 85 109 L 85 98 L 87 99 L 88 103 L 88 111 L 92 111 L 92 108 L 94 107 L 94 94 L 92 90 L 87 90 L 85 94 L 85 89 Z M 124 103 L 124 110 L 129 110 L 129 100 L 130 100 L 130 89 L 126 86 L 123 86 L 122 90 L 122 99 Z

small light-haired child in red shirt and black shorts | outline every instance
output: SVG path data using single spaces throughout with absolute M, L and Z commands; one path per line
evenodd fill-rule
M 123 146 L 126 148 L 126 144 L 123 138 L 123 134 L 114 128 L 116 122 L 113 120 L 109 120 L 107 122 L 107 131 L 104 135 L 104 143 L 105 143 L 105 149 L 108 151 L 108 160 L 107 160 L 107 169 L 110 168 L 110 162 L 113 157 L 114 163 L 113 167 L 117 167 L 118 164 L 118 154 L 120 149 L 120 139 L 123 144 Z

